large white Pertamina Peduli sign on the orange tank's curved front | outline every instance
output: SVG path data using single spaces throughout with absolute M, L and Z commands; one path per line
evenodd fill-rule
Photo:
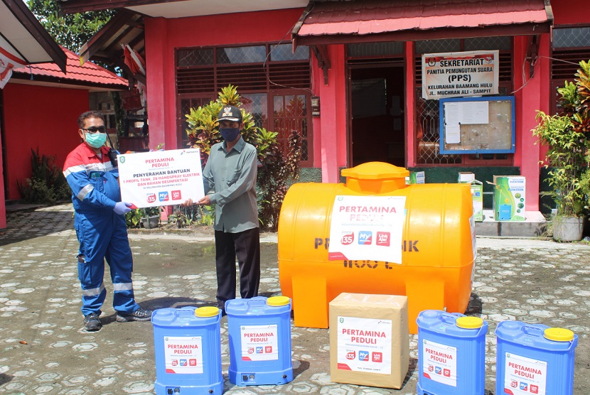
M 402 264 L 405 196 L 336 196 L 328 260 Z

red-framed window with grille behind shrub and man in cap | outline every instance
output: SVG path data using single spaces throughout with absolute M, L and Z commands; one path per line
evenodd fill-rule
M 301 133 L 301 166 L 311 166 L 309 48 L 299 46 L 295 53 L 291 48 L 288 43 L 176 50 L 179 145 L 188 144 L 185 114 L 191 107 L 208 104 L 222 87 L 234 85 L 256 126 L 277 131 L 284 149 L 291 130 Z M 275 111 L 278 98 L 284 102 L 281 111 Z

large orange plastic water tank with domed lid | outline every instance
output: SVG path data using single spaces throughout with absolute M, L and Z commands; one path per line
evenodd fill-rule
M 328 303 L 342 292 L 406 295 L 409 330 L 422 310 L 464 313 L 475 269 L 469 184 L 405 184 L 389 163 L 344 169 L 345 184 L 296 183 L 279 217 L 279 281 L 295 325 L 328 328 Z M 402 263 L 328 260 L 336 196 L 405 196 Z

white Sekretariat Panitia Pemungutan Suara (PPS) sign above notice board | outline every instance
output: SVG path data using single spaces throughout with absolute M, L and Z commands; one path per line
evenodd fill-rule
M 498 94 L 498 50 L 422 55 L 422 98 Z

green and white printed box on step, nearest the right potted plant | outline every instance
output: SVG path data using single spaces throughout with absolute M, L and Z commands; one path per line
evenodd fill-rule
M 526 220 L 526 178 L 522 175 L 494 175 L 493 185 L 494 220 Z

